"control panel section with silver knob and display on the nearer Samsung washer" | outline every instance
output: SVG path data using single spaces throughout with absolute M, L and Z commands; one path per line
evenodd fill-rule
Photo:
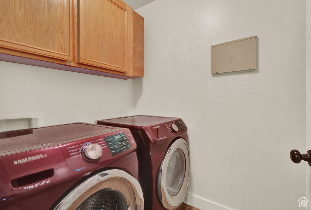
M 71 178 L 113 163 L 133 152 L 137 144 L 128 128 L 72 141 L 62 146 Z

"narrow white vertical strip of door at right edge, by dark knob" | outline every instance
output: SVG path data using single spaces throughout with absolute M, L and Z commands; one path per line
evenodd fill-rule
M 308 37 L 308 38 L 307 38 Z M 306 1 L 306 151 L 311 150 L 311 1 Z M 311 198 L 311 167 L 307 167 L 307 198 Z M 308 209 L 311 209 L 309 199 Z

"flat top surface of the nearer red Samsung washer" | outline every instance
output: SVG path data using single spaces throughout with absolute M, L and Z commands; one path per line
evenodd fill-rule
M 42 128 L 0 132 L 0 156 L 72 142 L 122 128 L 72 123 Z

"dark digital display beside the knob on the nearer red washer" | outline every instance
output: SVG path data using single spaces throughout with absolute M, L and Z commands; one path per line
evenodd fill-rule
M 117 155 L 125 150 L 131 148 L 128 138 L 126 138 L 124 133 L 119 133 L 113 136 L 108 136 L 104 138 L 112 156 Z

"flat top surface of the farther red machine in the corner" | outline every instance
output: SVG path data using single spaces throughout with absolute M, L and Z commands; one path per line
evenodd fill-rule
M 165 122 L 171 122 L 171 121 L 176 121 L 176 120 L 180 120 L 180 118 L 135 115 L 135 116 L 128 116 L 128 117 L 114 118 L 114 119 L 105 119 L 104 121 L 107 123 L 123 124 L 123 125 L 130 125 L 133 127 L 139 127 L 139 126 L 157 125 L 157 124 L 162 124 Z

